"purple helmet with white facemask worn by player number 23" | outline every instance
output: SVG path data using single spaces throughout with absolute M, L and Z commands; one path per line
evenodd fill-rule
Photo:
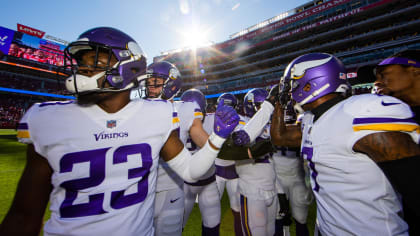
M 93 65 L 84 65 L 82 56 L 95 52 Z M 98 63 L 99 53 L 108 54 L 108 63 Z M 112 55 L 117 63 L 110 64 Z M 146 70 L 146 56 L 140 46 L 127 34 L 110 27 L 90 29 L 70 43 L 64 50 L 66 66 L 71 66 L 73 75 L 66 80 L 66 88 L 71 93 L 122 91 L 137 85 L 137 77 Z M 91 68 L 101 73 L 92 77 L 81 75 L 79 68 Z M 98 79 L 105 76 L 104 83 Z M 104 88 L 105 81 L 111 86 Z

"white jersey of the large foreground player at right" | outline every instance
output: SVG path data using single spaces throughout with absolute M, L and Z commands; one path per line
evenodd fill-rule
M 373 94 L 352 96 L 318 120 L 305 113 L 301 153 L 308 161 L 322 235 L 407 235 L 401 204 L 388 179 L 353 145 L 366 135 L 403 131 L 418 140 L 410 108 Z

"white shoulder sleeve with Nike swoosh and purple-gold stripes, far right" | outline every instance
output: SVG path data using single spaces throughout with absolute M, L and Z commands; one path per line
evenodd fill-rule
M 366 135 L 387 131 L 407 133 L 416 143 L 419 142 L 420 127 L 414 120 L 414 114 L 407 104 L 397 98 L 369 94 L 345 110 L 353 115 L 351 147 Z

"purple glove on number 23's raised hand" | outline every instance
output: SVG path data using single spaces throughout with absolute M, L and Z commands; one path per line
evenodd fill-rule
M 224 99 L 220 99 L 214 116 L 214 133 L 222 138 L 227 138 L 239 123 L 239 116 L 235 109 L 224 105 Z

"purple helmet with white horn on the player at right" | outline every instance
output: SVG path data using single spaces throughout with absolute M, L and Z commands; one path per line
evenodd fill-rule
M 286 67 L 283 79 L 290 83 L 292 98 L 299 106 L 350 88 L 343 63 L 327 53 L 297 57 Z

